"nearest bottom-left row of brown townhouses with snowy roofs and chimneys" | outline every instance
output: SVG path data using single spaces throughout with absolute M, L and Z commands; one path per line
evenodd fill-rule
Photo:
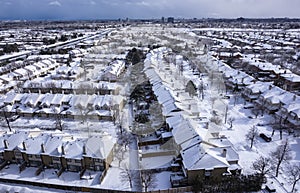
M 18 164 L 22 172 L 26 167 L 37 167 L 38 175 L 44 168 L 63 171 L 102 171 L 113 160 L 115 140 L 108 134 L 89 138 L 75 138 L 64 133 L 18 131 L 0 136 L 0 169 L 10 163 Z

